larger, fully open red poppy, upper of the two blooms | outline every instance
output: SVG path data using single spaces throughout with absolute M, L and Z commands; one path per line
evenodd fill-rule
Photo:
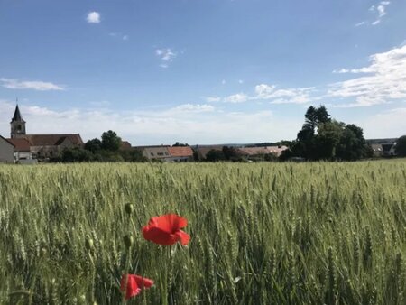
M 176 214 L 152 217 L 147 226 L 143 227 L 143 238 L 158 245 L 173 245 L 180 242 L 188 245 L 190 236 L 180 230 L 188 226 L 188 220 Z

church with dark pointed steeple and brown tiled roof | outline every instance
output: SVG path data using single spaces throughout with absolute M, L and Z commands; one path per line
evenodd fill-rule
M 84 144 L 80 134 L 26 134 L 25 123 L 17 105 L 10 122 L 11 138 L 8 139 L 15 146 L 16 162 L 19 161 L 18 156 L 42 161 L 50 160 L 59 156 L 65 148 L 82 147 Z

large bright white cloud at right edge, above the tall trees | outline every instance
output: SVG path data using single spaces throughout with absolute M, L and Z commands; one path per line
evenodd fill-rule
M 406 46 L 374 54 L 369 61 L 368 67 L 343 70 L 367 75 L 330 85 L 328 97 L 354 100 L 338 106 L 374 106 L 406 98 Z

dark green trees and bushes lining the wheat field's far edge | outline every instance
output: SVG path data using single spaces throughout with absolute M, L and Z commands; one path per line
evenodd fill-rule
M 120 149 L 121 138 L 114 131 L 107 131 L 101 139 L 88 140 L 84 147 L 65 149 L 54 162 L 146 162 L 143 152 L 135 149 Z M 278 158 L 272 153 L 264 153 L 255 161 L 357 161 L 374 157 L 374 151 L 364 139 L 364 131 L 354 124 L 339 122 L 328 114 L 325 106 L 309 106 L 305 121 L 293 141 L 262 143 L 255 146 L 286 145 L 288 149 Z M 187 143 L 174 143 L 173 146 L 189 146 Z M 406 135 L 396 143 L 398 156 L 406 156 Z M 201 162 L 246 162 L 234 147 L 223 146 L 221 150 L 210 150 L 202 158 L 194 150 L 194 161 Z

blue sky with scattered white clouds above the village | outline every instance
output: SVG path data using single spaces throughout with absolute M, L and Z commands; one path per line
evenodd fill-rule
M 294 139 L 310 105 L 406 134 L 406 1 L 0 0 L 0 134 Z

